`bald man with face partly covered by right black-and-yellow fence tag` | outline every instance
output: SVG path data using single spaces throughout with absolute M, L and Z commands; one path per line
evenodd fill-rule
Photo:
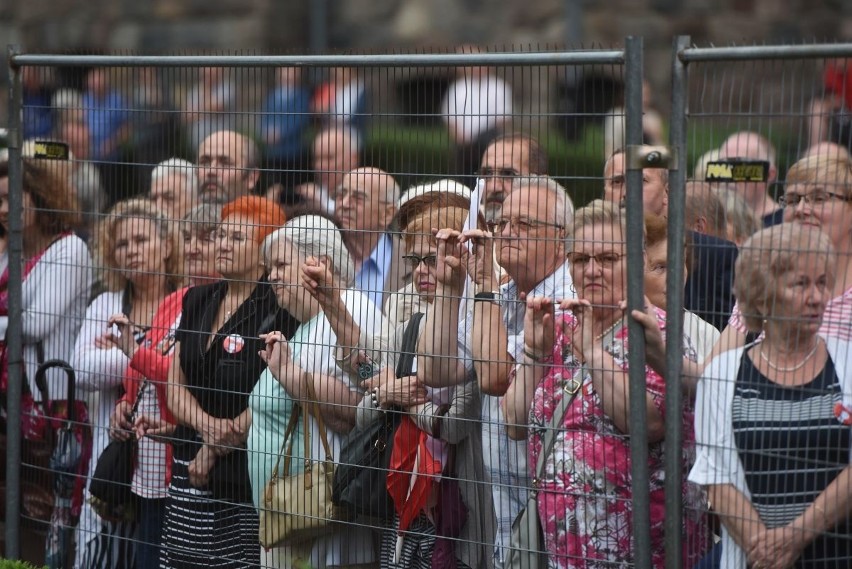
M 775 182 L 775 148 L 756 132 L 736 132 L 729 136 L 719 148 L 719 160 L 761 160 L 769 164 L 765 182 L 737 182 L 730 184 L 745 199 L 754 213 L 763 219 L 764 227 L 781 223 L 784 210 L 769 195 L 769 187 Z

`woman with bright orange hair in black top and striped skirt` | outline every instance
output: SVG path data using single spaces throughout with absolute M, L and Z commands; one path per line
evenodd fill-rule
M 264 365 L 260 335 L 281 330 L 289 338 L 298 325 L 278 309 L 260 257 L 263 240 L 284 223 L 280 206 L 241 197 L 221 219 L 216 271 L 224 279 L 186 293 L 169 372 L 179 425 L 160 557 L 169 569 L 260 562 L 244 449 L 248 399 Z

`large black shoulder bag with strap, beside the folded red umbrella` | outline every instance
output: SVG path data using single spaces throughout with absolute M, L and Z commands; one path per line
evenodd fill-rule
M 413 314 L 405 327 L 396 377 L 411 375 L 422 318 L 420 312 Z M 393 517 L 387 476 L 394 433 L 402 416 L 399 410 L 385 411 L 369 425 L 355 427 L 343 439 L 331 496 L 342 517 L 374 520 Z

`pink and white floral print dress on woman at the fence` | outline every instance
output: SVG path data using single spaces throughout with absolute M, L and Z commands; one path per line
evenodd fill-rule
M 656 316 L 665 330 L 665 313 L 656 310 Z M 577 326 L 570 313 L 563 318 L 566 330 Z M 626 371 L 627 327 L 622 325 L 609 337 L 611 340 L 604 347 Z M 566 396 L 563 388 L 582 372 L 573 354 L 570 335 L 558 333 L 553 357 L 554 366 L 539 383 L 530 408 L 531 468 L 538 462 L 544 429 Z M 660 415 L 664 415 L 665 380 L 649 367 L 645 369 L 645 378 L 648 393 Z M 691 418 L 691 413 L 684 413 L 684 462 L 694 454 Z M 664 450 L 664 442 L 652 444 L 648 449 L 654 567 L 663 567 L 665 561 Z M 630 460 L 630 437 L 619 431 L 604 413 L 592 377 L 586 372 L 582 388 L 565 413 L 553 451 L 547 457 L 544 479 L 539 482 L 539 516 L 550 567 L 612 568 L 633 562 Z M 685 482 L 687 466 L 684 465 L 683 566 L 692 567 L 705 549 L 707 531 L 701 494 L 697 487 L 688 488 Z

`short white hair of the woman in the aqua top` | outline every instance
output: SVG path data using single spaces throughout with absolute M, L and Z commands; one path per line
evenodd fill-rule
M 332 272 L 346 287 L 355 282 L 355 263 L 343 243 L 337 226 L 321 215 L 299 215 L 263 240 L 261 254 L 269 264 L 272 247 L 281 240 L 290 242 L 305 257 L 327 257 Z

